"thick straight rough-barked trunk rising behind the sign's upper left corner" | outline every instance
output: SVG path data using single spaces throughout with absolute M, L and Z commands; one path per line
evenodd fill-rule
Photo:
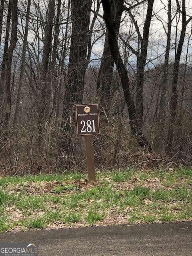
M 74 104 L 82 103 L 83 99 L 91 4 L 91 0 L 72 0 L 72 35 L 63 111 L 66 122 Z

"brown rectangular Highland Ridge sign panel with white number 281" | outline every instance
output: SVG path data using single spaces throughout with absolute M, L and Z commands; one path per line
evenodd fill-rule
M 100 134 L 98 104 L 75 105 L 77 135 Z

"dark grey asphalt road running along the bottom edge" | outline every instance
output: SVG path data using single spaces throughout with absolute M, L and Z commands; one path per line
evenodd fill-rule
M 192 256 L 192 222 L 8 232 L 0 242 L 37 242 L 40 256 Z

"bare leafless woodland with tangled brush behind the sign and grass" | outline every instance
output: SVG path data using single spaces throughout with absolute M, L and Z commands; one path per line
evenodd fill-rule
M 74 105 L 99 103 L 96 167 L 192 163 L 188 0 L 1 0 L 0 173 L 83 171 Z

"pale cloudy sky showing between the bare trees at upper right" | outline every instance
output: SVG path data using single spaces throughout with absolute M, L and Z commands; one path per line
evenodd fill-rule
M 149 45 L 148 45 L 148 60 L 149 62 L 146 66 L 151 68 L 154 65 L 162 64 L 164 62 L 164 52 L 166 49 L 166 33 L 165 29 L 167 29 L 167 11 L 168 11 L 168 0 L 155 0 L 154 1 L 154 8 L 153 8 L 153 18 L 151 22 L 150 27 L 150 39 L 149 39 Z M 144 20 L 146 17 L 146 4 L 142 4 L 140 8 L 136 8 L 136 10 L 132 10 L 132 14 L 135 15 L 135 19 L 138 22 L 138 26 L 140 27 L 140 32 L 142 34 L 142 29 L 144 25 Z M 176 13 L 176 1 L 172 0 L 172 17 L 174 17 L 174 14 Z M 190 16 L 190 13 L 192 15 L 192 1 L 186 0 L 186 14 L 188 15 L 188 18 Z M 100 6 L 100 14 L 102 15 L 102 6 Z M 178 15 L 177 15 L 178 17 Z M 128 33 L 130 30 L 131 20 L 128 14 L 125 12 L 123 13 L 122 19 L 124 20 L 121 24 L 120 33 L 123 34 L 124 38 L 128 38 Z M 175 40 L 176 40 L 176 22 L 178 19 L 176 17 L 174 18 L 172 22 L 172 40 L 171 40 L 171 52 L 170 52 L 170 61 L 174 61 L 175 56 Z M 99 18 L 99 21 L 96 23 L 96 28 L 100 25 L 100 22 L 104 23 L 101 18 Z M 187 51 L 187 43 L 189 34 L 191 34 L 191 23 L 188 24 L 187 32 L 186 32 L 186 40 L 184 42 L 183 46 L 183 53 L 181 57 L 181 62 L 185 62 L 186 60 L 186 51 Z M 177 33 L 177 42 L 180 38 L 180 30 L 181 30 L 181 22 L 178 23 L 178 33 Z M 134 26 L 133 26 L 134 31 Z M 102 31 L 103 32 L 103 31 Z M 136 32 L 132 34 L 131 39 L 129 41 L 130 45 L 137 49 L 137 42 L 136 39 L 137 34 Z M 190 47 L 188 50 L 188 63 L 191 64 L 191 55 L 192 55 L 192 37 L 189 40 Z M 98 59 L 102 56 L 103 52 L 103 46 L 104 46 L 104 37 L 101 38 L 93 47 L 92 49 L 92 58 Z M 122 49 L 123 50 L 123 49 Z M 123 56 L 123 54 L 122 54 Z M 155 59 L 155 60 L 154 60 Z M 134 56 L 130 56 L 128 58 L 128 61 L 130 65 L 135 66 L 136 65 L 136 58 Z M 146 67 L 147 68 L 147 67 Z

